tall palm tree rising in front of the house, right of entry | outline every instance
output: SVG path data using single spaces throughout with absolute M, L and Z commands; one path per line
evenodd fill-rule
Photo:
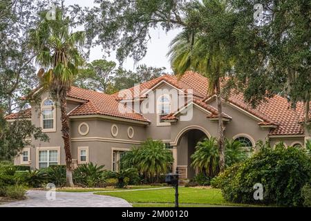
M 232 70 L 234 53 L 232 52 L 232 18 L 227 1 L 205 0 L 197 2 L 197 18 L 202 18 L 200 28 L 185 28 L 171 41 L 168 56 L 171 66 L 178 75 L 186 70 L 198 71 L 209 79 L 208 93 L 216 95 L 218 108 L 218 149 L 220 153 L 220 171 L 225 169 L 225 145 L 223 127 L 222 91 L 220 83 L 225 73 Z

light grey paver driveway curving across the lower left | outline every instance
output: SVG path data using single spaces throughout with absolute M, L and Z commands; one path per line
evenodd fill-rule
M 131 207 L 129 202 L 109 195 L 93 193 L 56 192 L 55 200 L 46 200 L 46 191 L 28 191 L 27 199 L 7 204 L 2 207 Z

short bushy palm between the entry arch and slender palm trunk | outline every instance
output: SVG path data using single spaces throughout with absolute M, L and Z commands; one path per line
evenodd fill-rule
M 219 151 L 215 137 L 205 138 L 196 144 L 196 151 L 191 155 L 191 166 L 198 168 L 204 175 L 214 177 L 219 170 Z

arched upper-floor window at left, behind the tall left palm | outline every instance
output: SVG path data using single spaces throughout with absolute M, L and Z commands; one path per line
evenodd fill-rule
M 41 127 L 44 132 L 53 132 L 56 128 L 55 105 L 51 99 L 45 99 L 41 106 Z

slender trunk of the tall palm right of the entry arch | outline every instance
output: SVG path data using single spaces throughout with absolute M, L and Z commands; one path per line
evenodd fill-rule
M 220 172 L 225 170 L 225 145 L 223 136 L 223 106 L 221 104 L 220 96 L 220 79 L 216 84 L 216 102 L 218 108 L 218 150 L 219 150 L 219 168 Z

